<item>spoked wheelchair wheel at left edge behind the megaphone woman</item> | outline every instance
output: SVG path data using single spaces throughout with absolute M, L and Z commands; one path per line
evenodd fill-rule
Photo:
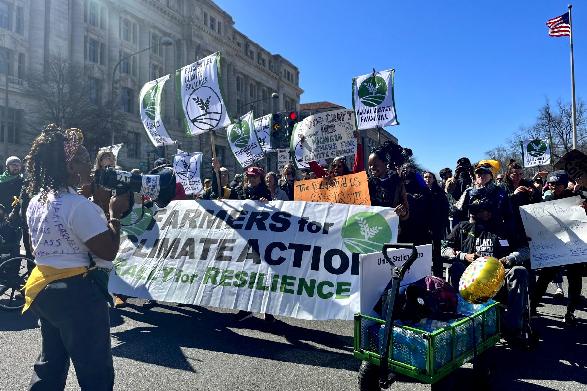
M 8 256 L 0 261 L 0 310 L 16 311 L 25 306 L 25 295 L 20 291 L 35 267 L 27 256 Z

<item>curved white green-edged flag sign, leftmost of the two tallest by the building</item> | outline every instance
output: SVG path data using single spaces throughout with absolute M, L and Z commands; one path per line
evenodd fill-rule
M 167 75 L 159 79 L 147 81 L 141 89 L 139 96 L 141 121 L 143 121 L 147 135 L 155 147 L 174 144 L 171 137 L 169 137 L 161 116 L 163 86 L 170 76 Z

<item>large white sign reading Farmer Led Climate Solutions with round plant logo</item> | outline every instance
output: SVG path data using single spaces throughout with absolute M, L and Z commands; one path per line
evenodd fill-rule
M 176 71 L 177 99 L 188 136 L 230 125 L 222 99 L 220 52 Z

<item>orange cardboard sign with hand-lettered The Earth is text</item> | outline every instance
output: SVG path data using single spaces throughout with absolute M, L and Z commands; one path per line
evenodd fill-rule
M 295 182 L 294 200 L 371 205 L 367 172 L 338 176 L 330 183 L 323 178 Z

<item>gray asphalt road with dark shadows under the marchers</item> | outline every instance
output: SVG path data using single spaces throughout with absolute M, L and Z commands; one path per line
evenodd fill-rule
M 583 278 L 583 292 L 586 282 Z M 587 389 L 587 309 L 576 312 L 577 327 L 566 327 L 566 300 L 555 302 L 553 292 L 551 285 L 538 308 L 541 317 L 532 321 L 541 337 L 534 351 L 495 346 L 496 390 Z M 235 311 L 173 303 L 144 310 L 141 302 L 130 299 L 129 307 L 110 310 L 116 390 L 357 389 L 360 361 L 352 354 L 352 321 L 278 317 L 265 324 L 257 314 L 235 322 Z M 26 389 L 39 349 L 31 312 L 0 312 L 2 390 Z M 472 365 L 455 374 L 457 389 L 475 389 Z M 72 366 L 66 390 L 77 389 Z M 430 385 L 401 378 L 390 389 L 430 390 Z

